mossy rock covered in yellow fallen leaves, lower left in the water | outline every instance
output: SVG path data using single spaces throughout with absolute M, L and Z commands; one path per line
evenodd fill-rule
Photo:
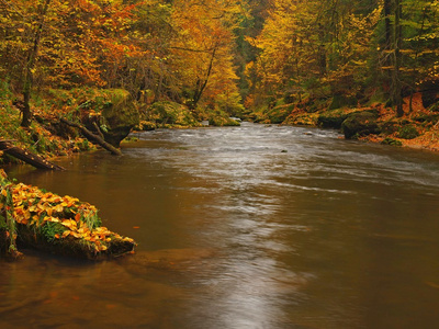
M 0 189 L 0 240 L 3 231 L 9 252 L 16 250 L 15 238 L 37 249 L 89 259 L 120 256 L 135 247 L 133 239 L 101 226 L 98 209 L 89 203 L 13 184 L 2 170 Z

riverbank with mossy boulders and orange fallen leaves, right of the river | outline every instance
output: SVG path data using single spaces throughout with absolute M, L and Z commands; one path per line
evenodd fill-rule
M 381 102 L 364 106 L 331 109 L 330 102 L 280 104 L 256 112 L 252 120 L 264 124 L 334 128 L 347 139 L 439 151 L 438 104 L 423 105 L 421 94 L 404 99 L 404 115 Z

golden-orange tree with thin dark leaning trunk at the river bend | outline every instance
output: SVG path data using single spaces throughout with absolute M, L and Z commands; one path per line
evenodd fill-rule
M 243 5 L 234 0 L 173 1 L 177 36 L 171 42 L 170 56 L 190 107 L 195 109 L 203 95 L 211 104 L 223 92 L 239 98 L 233 31 L 241 11 Z

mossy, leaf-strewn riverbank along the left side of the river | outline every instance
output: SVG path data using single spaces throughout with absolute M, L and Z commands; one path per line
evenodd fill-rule
M 122 89 L 42 91 L 32 100 L 30 127 L 20 125 L 21 107 L 20 95 L 9 90 L 0 94 L 1 139 L 13 140 L 14 146 L 48 159 L 95 150 L 95 144 L 106 143 L 119 148 L 134 129 L 201 127 L 205 125 L 203 122 L 214 126 L 239 125 L 221 109 L 198 106 L 191 110 L 170 101 L 139 103 Z M 66 124 L 70 122 L 72 124 Z M 18 160 L 0 154 L 0 164 L 15 162 Z

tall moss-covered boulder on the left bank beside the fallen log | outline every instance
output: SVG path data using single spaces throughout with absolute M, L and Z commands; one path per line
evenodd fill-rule
M 105 141 L 114 147 L 119 147 L 122 139 L 128 136 L 140 121 L 130 92 L 122 89 L 112 90 L 101 116 L 101 132 Z

